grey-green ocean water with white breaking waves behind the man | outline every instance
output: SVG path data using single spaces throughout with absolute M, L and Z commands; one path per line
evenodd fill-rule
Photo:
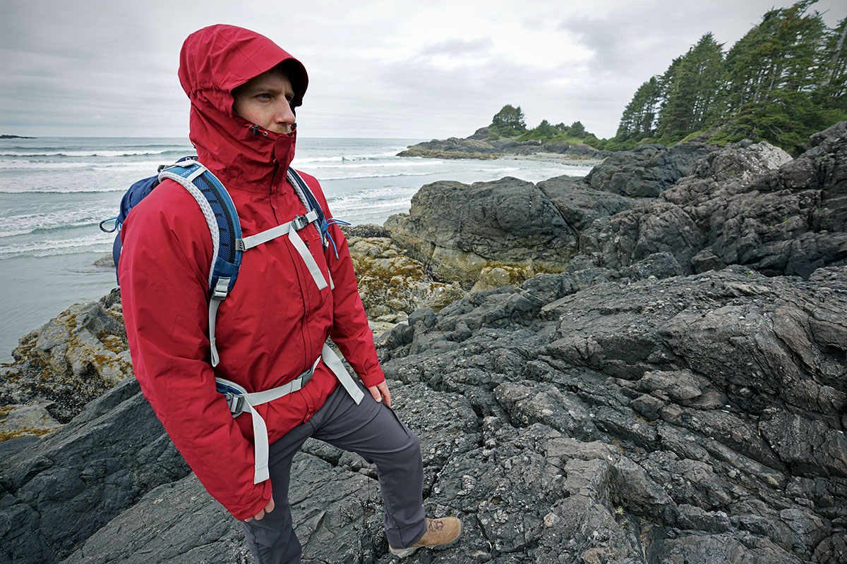
M 395 156 L 418 141 L 301 137 L 293 164 L 320 180 L 335 217 L 380 225 L 407 212 L 425 183 L 505 176 L 538 182 L 590 171 L 552 162 Z M 116 286 L 113 269 L 94 266 L 113 241 L 99 222 L 117 215 L 131 183 L 193 152 L 187 139 L 0 140 L 0 362 L 12 359 L 29 331 Z

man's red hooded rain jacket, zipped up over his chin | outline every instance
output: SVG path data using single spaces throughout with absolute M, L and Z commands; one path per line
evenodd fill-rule
M 295 134 L 252 134 L 252 124 L 232 111 L 232 89 L 283 61 L 298 105 L 306 71 L 267 37 L 214 25 L 189 36 L 180 56 L 180 82 L 191 98 L 191 142 L 232 196 L 244 237 L 306 212 L 285 179 Z M 301 174 L 329 218 L 318 182 Z M 208 342 L 213 247 L 196 201 L 165 180 L 136 205 L 121 232 L 119 277 L 136 378 L 185 461 L 238 519 L 265 507 L 271 485 L 253 484 L 250 413 L 233 419 L 215 391 L 216 373 L 248 392 L 268 390 L 307 370 L 331 337 L 366 386 L 385 380 L 346 239 L 337 226 L 330 233 L 337 259 L 331 244 L 323 249 L 313 225 L 299 235 L 324 277 L 331 272 L 332 290 L 318 290 L 287 237 L 244 253 L 238 281 L 218 312 L 220 364 L 213 370 Z M 259 406 L 269 442 L 310 419 L 337 384 L 321 363 L 300 392 Z

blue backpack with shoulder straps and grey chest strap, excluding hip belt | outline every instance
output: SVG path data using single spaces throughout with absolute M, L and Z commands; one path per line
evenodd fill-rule
M 215 318 L 220 303 L 229 295 L 235 286 L 235 280 L 238 277 L 238 271 L 241 267 L 242 253 L 258 244 L 267 243 L 274 238 L 296 233 L 296 231 L 306 227 L 309 223 L 314 223 L 315 227 L 318 228 L 318 233 L 320 233 L 324 249 L 327 248 L 329 243 L 332 243 L 335 249 L 335 257 L 338 258 L 338 249 L 335 247 L 335 241 L 332 240 L 329 234 L 329 226 L 335 223 L 342 225 L 350 224 L 336 219 L 330 219 L 328 221 L 324 211 L 318 204 L 318 200 L 314 197 L 307 183 L 303 181 L 296 170 L 289 168 L 287 177 L 306 208 L 307 213 L 302 216 L 296 216 L 291 222 L 272 227 L 267 231 L 246 238 L 241 237 L 238 212 L 235 211 L 235 204 L 230 194 L 224 188 L 224 184 L 220 183 L 218 178 L 215 178 L 208 168 L 203 167 L 200 162 L 197 162 L 196 156 L 184 156 L 173 165 L 163 165 L 159 167 L 159 172 L 156 176 L 142 178 L 132 184 L 120 200 L 118 216 L 110 217 L 100 222 L 100 229 L 102 231 L 106 233 L 117 232 L 112 245 L 115 277 L 117 277 L 121 250 L 120 228 L 123 226 L 126 216 L 130 214 L 132 208 L 138 205 L 141 200 L 144 200 L 147 194 L 150 194 L 165 178 L 180 183 L 183 188 L 194 196 L 194 199 L 197 200 L 197 205 L 200 206 L 203 212 L 203 216 L 206 217 L 209 232 L 212 234 L 213 256 L 212 264 L 209 268 L 208 293 L 209 341 L 212 346 L 213 366 L 216 366 L 219 362 L 214 339 Z M 114 226 L 108 228 L 108 222 L 114 222 Z M 312 273 L 318 288 L 323 289 L 328 284 L 332 287 L 331 277 L 329 282 L 324 280 L 324 275 L 320 272 L 317 263 L 309 253 L 306 245 L 303 244 L 302 239 L 300 237 L 290 237 L 290 239 Z M 118 284 L 120 285 L 120 280 L 118 280 Z

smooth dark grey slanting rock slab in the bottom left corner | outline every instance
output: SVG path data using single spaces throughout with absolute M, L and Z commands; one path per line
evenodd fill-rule
M 19 446 L 0 467 L 0 562 L 59 561 L 148 490 L 189 472 L 134 379 Z

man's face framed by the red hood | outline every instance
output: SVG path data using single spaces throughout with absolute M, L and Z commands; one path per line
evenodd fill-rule
M 274 133 L 291 133 L 294 112 L 291 80 L 276 68 L 232 90 L 232 109 L 248 122 Z

